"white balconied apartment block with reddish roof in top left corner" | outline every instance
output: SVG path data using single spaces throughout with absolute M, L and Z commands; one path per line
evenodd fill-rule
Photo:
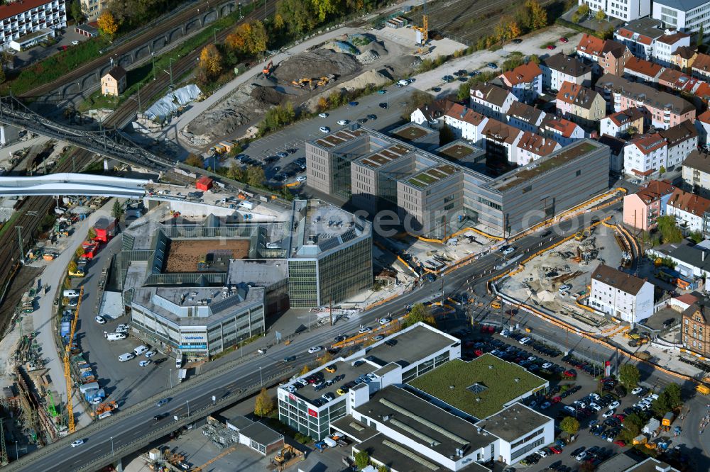
M 2 48 L 22 50 L 66 28 L 65 0 L 23 0 L 0 6 Z

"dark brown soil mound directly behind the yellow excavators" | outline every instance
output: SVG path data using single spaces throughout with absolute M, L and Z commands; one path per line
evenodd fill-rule
M 360 64 L 349 54 L 339 54 L 328 49 L 303 52 L 278 64 L 273 75 L 282 84 L 303 77 L 323 77 L 335 74 L 337 77 L 354 74 L 360 70 Z

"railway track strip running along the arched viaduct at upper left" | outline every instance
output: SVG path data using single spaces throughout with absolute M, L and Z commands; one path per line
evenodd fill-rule
M 213 6 L 214 3 L 215 1 L 212 0 Z M 148 30 L 146 30 L 145 33 L 141 33 L 140 35 L 136 36 L 136 38 L 133 38 L 127 41 L 126 43 L 119 45 L 114 50 L 111 50 L 111 55 L 124 55 L 126 54 L 126 52 L 130 52 L 131 50 L 133 50 L 133 48 L 135 48 L 136 46 L 146 44 L 149 41 L 157 38 L 158 36 L 163 35 L 167 31 L 175 28 L 175 26 L 179 26 L 182 23 L 185 23 L 185 21 L 188 21 L 191 18 L 195 18 L 196 11 L 198 9 L 202 11 L 207 11 L 208 8 L 209 0 L 198 1 L 190 8 L 187 8 L 185 9 L 185 11 L 178 13 L 178 15 L 174 16 L 173 18 L 169 18 L 167 21 L 155 26 L 155 28 L 149 28 Z M 21 94 L 20 97 L 23 99 L 27 99 L 31 97 L 43 96 L 51 91 L 54 91 L 55 89 L 58 89 L 62 85 L 67 84 L 68 82 L 72 82 L 75 79 L 83 77 L 85 74 L 88 74 L 89 72 L 92 72 L 95 69 L 104 66 L 105 64 L 106 57 L 97 57 L 91 62 L 87 62 L 86 64 L 83 64 L 77 67 L 76 69 L 73 69 L 72 71 L 67 71 L 67 74 L 60 77 L 60 79 L 48 82 L 47 84 L 43 84 L 38 87 L 35 87 L 32 90 L 26 91 L 24 94 Z

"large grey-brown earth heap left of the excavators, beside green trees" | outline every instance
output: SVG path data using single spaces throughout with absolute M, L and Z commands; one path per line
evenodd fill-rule
M 285 94 L 273 87 L 242 84 L 217 106 L 185 126 L 182 137 L 196 147 L 207 145 L 233 134 L 244 125 L 255 123 L 269 108 L 284 101 L 284 97 Z

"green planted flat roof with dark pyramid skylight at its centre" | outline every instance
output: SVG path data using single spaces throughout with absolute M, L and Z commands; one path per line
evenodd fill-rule
M 482 420 L 548 383 L 517 364 L 484 354 L 469 362 L 449 361 L 409 385 Z

